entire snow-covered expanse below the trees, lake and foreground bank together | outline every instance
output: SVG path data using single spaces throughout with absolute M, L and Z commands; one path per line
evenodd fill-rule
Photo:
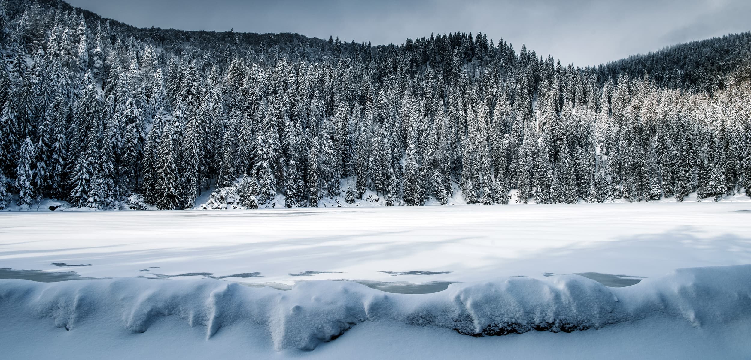
M 0 359 L 749 359 L 749 230 L 749 202 L 5 212 Z

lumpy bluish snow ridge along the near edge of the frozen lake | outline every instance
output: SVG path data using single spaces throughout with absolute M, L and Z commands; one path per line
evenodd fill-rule
M 10 329 L 41 319 L 70 331 L 104 326 L 143 333 L 164 317 L 204 329 L 207 339 L 222 328 L 268 334 L 276 350 L 313 350 L 369 320 L 472 336 L 573 332 L 649 317 L 730 326 L 751 320 L 751 265 L 680 269 L 624 288 L 567 275 L 451 284 L 423 295 L 337 281 L 303 282 L 291 291 L 210 279 L 0 281 L 0 322 Z

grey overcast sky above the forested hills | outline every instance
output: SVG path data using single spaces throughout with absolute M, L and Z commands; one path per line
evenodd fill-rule
M 403 43 L 482 31 L 562 62 L 596 65 L 674 43 L 751 30 L 751 0 L 68 0 L 133 26 L 297 32 Z

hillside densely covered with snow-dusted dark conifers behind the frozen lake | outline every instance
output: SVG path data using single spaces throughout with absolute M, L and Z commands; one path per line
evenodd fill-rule
M 0 208 L 682 201 L 751 187 L 751 33 L 598 67 L 0 9 Z M 593 46 L 596 46 L 593 44 Z

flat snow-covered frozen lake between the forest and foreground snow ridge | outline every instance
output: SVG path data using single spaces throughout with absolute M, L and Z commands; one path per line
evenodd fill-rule
M 277 288 L 321 279 L 440 284 L 433 290 L 592 273 L 626 286 L 672 269 L 751 263 L 748 210 L 749 202 L 686 202 L 3 212 L 0 269 Z

